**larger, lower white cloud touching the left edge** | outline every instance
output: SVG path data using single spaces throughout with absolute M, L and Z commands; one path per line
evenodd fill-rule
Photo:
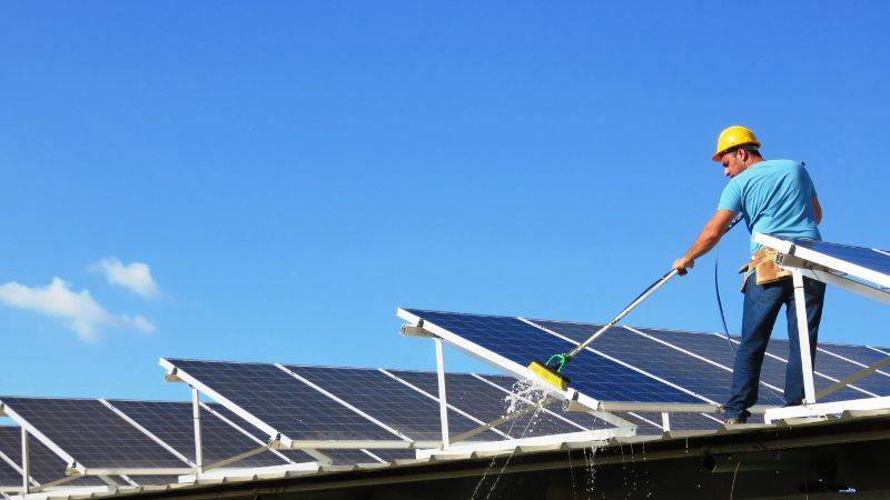
M 52 278 L 46 287 L 31 288 L 14 281 L 0 284 L 0 301 L 9 307 L 61 318 L 86 341 L 96 340 L 102 327 L 155 331 L 155 324 L 148 318 L 111 314 L 93 300 L 89 291 L 76 292 L 60 278 Z

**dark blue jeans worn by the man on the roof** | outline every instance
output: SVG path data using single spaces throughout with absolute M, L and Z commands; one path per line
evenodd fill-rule
M 748 408 L 758 400 L 760 367 L 763 353 L 770 341 L 772 327 L 782 306 L 788 318 L 788 367 L 785 369 L 785 404 L 800 404 L 803 401 L 803 372 L 800 364 L 800 342 L 798 339 L 798 317 L 794 301 L 794 284 L 791 278 L 767 284 L 756 284 L 756 277 L 748 277 L 742 313 L 742 341 L 735 351 L 735 366 L 732 371 L 730 399 L 723 406 L 726 419 L 746 419 Z M 815 361 L 815 343 L 819 338 L 819 322 L 822 319 L 822 304 L 825 300 L 825 283 L 803 279 L 807 298 L 807 322 L 810 329 L 810 359 Z M 815 364 L 813 364 L 815 366 Z

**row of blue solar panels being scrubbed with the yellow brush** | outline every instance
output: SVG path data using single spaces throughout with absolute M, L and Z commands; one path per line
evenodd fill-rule
M 423 319 L 425 324 L 469 340 L 478 352 L 504 357 L 523 367 L 533 360 L 546 360 L 552 353 L 567 352 L 601 327 L 418 309 L 406 311 Z M 739 339 L 731 341 L 736 344 Z M 883 356 L 880 351 L 820 342 L 815 360 L 817 390 L 880 360 Z M 761 373 L 760 403 L 783 403 L 788 356 L 788 340 L 773 338 Z M 719 404 L 729 396 L 733 360 L 733 348 L 726 338 L 718 334 L 615 327 L 570 362 L 564 373 L 571 379 L 571 388 L 601 401 Z M 890 374 L 879 371 L 828 396 L 824 401 L 889 394 Z M 659 416 L 642 417 L 660 421 Z M 673 420 L 674 428 L 688 424 L 678 423 L 676 416 Z M 716 424 L 708 416 L 694 417 L 690 423 Z

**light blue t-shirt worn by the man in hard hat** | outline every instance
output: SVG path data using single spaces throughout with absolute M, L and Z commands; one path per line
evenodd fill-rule
M 723 188 L 719 210 L 742 212 L 749 232 L 821 241 L 815 226 L 815 188 L 803 163 L 768 160 L 754 163 Z M 762 246 L 751 241 L 751 252 Z

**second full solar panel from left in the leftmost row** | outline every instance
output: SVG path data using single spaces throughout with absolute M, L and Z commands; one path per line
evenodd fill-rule
M 195 458 L 195 427 L 190 402 L 112 400 L 111 406 L 169 444 L 191 462 Z M 201 411 L 204 464 L 229 459 L 261 444 L 238 432 L 209 411 Z M 307 457 L 306 461 L 314 461 Z M 233 462 L 227 467 L 269 467 L 286 463 L 270 451 Z

